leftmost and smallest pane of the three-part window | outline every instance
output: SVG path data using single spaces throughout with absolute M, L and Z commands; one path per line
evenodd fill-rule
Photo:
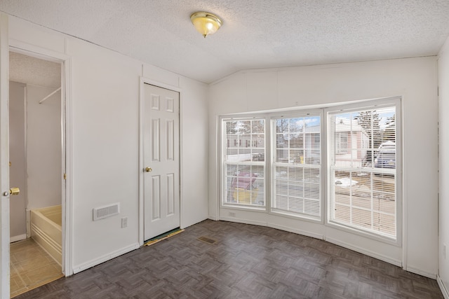
M 265 206 L 265 120 L 223 120 L 224 204 Z

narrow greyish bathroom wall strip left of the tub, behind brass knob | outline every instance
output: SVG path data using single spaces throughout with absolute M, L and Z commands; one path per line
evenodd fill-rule
M 19 195 L 11 197 L 11 241 L 25 239 L 26 169 L 25 169 L 25 84 L 9 82 L 9 167 L 10 186 L 20 188 Z

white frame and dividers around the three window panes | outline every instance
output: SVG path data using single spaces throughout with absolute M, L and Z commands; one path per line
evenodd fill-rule
M 373 232 L 366 232 L 363 230 L 358 230 L 356 228 L 351 228 L 346 225 L 341 225 L 339 223 L 333 223 L 329 221 L 328 211 L 329 211 L 329 198 L 328 194 L 330 192 L 331 186 L 329 185 L 329 169 L 328 165 L 330 165 L 330 149 L 329 147 L 329 126 L 328 126 L 328 112 L 333 111 L 358 111 L 361 109 L 372 109 L 375 107 L 381 106 L 396 106 L 396 239 L 391 239 L 389 237 L 385 237 L 383 235 L 376 235 Z M 272 176 L 273 176 L 273 167 L 272 167 L 272 125 L 271 119 L 279 116 L 286 117 L 300 117 L 307 115 L 309 112 L 321 111 L 321 219 L 316 218 L 307 218 L 304 215 L 293 215 L 279 211 L 272 211 Z M 328 228 L 337 229 L 342 232 L 349 232 L 353 235 L 359 235 L 361 237 L 366 237 L 369 239 L 373 239 L 375 241 L 383 242 L 385 244 L 392 244 L 395 246 L 402 246 L 403 240 L 403 164 L 402 164 L 402 153 L 403 153 L 403 144 L 402 144 L 402 123 L 401 123 L 401 113 L 402 113 L 402 101 L 401 97 L 389 97 L 382 99 L 370 99 L 370 100 L 359 100 L 356 102 L 345 102 L 342 104 L 335 104 L 333 106 L 323 106 L 314 109 L 300 108 L 290 111 L 283 112 L 264 112 L 264 113 L 241 113 L 227 116 L 219 116 L 218 118 L 218 132 L 219 132 L 219 142 L 218 142 L 218 152 L 219 152 L 219 174 L 218 174 L 218 188 L 219 188 L 219 209 L 236 209 L 243 211 L 255 211 L 262 212 L 268 215 L 273 216 L 283 216 L 286 218 L 293 218 L 301 221 L 311 221 L 314 223 L 321 223 L 323 229 L 327 226 Z M 251 206 L 238 206 L 232 204 L 223 204 L 223 153 L 222 153 L 222 120 L 225 119 L 246 119 L 249 118 L 264 118 L 265 119 L 265 174 L 264 174 L 264 189 L 265 189 L 265 206 L 264 207 L 251 207 Z M 267 218 L 268 219 L 268 218 Z M 330 237 L 332 239 L 331 231 L 325 233 L 326 237 Z

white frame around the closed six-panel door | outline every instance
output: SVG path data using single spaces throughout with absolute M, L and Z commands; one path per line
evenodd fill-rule
M 140 77 L 140 93 L 139 93 L 139 244 L 143 245 L 144 240 L 144 226 L 145 226 L 145 215 L 144 215 L 144 148 L 143 148 L 143 138 L 144 138 L 144 100 L 145 100 L 145 84 L 154 85 L 159 88 L 166 88 L 168 90 L 173 90 L 179 92 L 180 94 L 180 228 L 184 228 L 182 225 L 182 211 L 183 200 L 182 200 L 182 89 L 177 88 L 173 85 L 168 85 L 165 83 L 160 83 L 153 81 L 148 78 Z

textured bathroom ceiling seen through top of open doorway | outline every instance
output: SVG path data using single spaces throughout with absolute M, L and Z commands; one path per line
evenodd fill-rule
M 60 88 L 61 64 L 10 52 L 9 80 L 55 89 Z

